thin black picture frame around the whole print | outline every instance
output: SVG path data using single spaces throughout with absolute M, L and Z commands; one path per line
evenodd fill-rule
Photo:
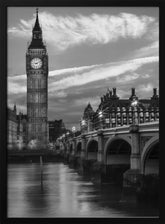
M 0 223 L 6 224 L 6 223 L 55 223 L 55 222 L 110 222 L 110 223 L 164 223 L 164 152 L 161 150 L 161 157 L 160 157 L 160 179 L 161 179 L 161 186 L 160 186 L 160 192 L 161 192 L 161 198 L 160 198 L 160 218 L 92 218 L 88 219 L 85 218 L 8 218 L 7 217 L 7 8 L 8 7 L 58 7 L 58 6 L 64 6 L 64 7 L 126 7 L 126 6 L 133 6 L 133 7 L 159 7 L 160 10 L 160 74 L 163 73 L 162 66 L 163 66 L 163 50 L 164 49 L 164 40 L 163 40 L 163 30 L 164 30 L 164 4 L 161 1 L 156 0 L 150 0 L 150 1 L 138 1 L 138 0 L 130 0 L 130 1 L 124 1 L 124 0 L 3 0 L 0 3 Z M 161 72 L 162 71 L 162 72 Z M 161 85 L 163 85 L 163 78 L 162 75 L 159 77 L 159 83 L 160 83 L 160 95 L 163 98 L 163 87 L 161 88 Z M 163 101 L 163 99 L 161 99 Z M 161 113 L 160 113 L 160 130 L 163 129 L 163 117 L 164 117 L 164 111 L 163 107 L 161 107 Z M 163 139 L 163 131 L 162 134 L 160 132 L 160 141 Z M 164 143 L 161 142 L 161 148 L 164 149 Z M 71 220 L 70 220 L 71 219 Z

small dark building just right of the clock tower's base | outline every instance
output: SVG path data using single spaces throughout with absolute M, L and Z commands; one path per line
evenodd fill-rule
M 66 128 L 62 119 L 49 121 L 49 142 L 55 143 L 56 139 L 66 132 Z

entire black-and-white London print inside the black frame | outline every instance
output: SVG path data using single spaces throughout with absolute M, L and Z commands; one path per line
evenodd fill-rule
M 159 217 L 159 7 L 7 8 L 7 217 Z

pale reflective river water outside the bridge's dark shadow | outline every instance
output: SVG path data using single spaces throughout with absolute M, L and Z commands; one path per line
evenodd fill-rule
M 158 209 L 122 196 L 114 185 L 96 187 L 63 163 L 8 165 L 8 217 L 153 217 Z

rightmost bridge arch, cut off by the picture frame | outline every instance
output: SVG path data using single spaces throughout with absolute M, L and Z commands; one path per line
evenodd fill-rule
M 159 174 L 159 137 L 151 138 L 145 145 L 142 156 L 142 174 Z

